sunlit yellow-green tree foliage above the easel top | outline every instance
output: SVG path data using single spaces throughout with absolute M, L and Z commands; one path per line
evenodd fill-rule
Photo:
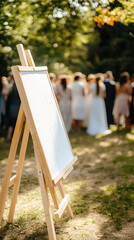
M 76 51 L 84 61 L 81 48 L 91 23 L 85 24 L 78 5 L 67 0 L 4 0 L 0 7 L 1 75 L 18 61 L 15 46 L 20 42 L 32 50 L 36 64 L 47 64 L 50 70 L 56 63 L 71 65 Z

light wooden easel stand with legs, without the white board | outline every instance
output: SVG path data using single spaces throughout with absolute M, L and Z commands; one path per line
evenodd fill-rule
M 22 44 L 17 45 L 17 50 L 19 53 L 19 57 L 20 57 L 22 66 L 35 67 L 30 50 L 24 51 Z M 9 210 L 8 222 L 9 223 L 13 222 L 15 205 L 16 205 L 16 201 L 17 201 L 17 195 L 18 195 L 18 191 L 19 191 L 20 179 L 21 179 L 21 174 L 22 174 L 22 167 L 23 167 L 23 162 L 25 159 L 25 153 L 26 153 L 27 143 L 28 143 L 28 138 L 29 138 L 29 127 L 28 127 L 28 123 L 26 120 L 22 143 L 21 143 L 21 148 L 20 148 L 20 154 L 19 154 L 16 175 L 11 177 L 13 164 L 15 161 L 15 155 L 16 155 L 16 151 L 17 151 L 17 146 L 18 146 L 22 126 L 24 123 L 24 117 L 25 117 L 25 114 L 23 111 L 23 107 L 21 105 L 19 114 L 18 114 L 18 118 L 17 118 L 17 122 L 16 122 L 14 135 L 13 135 L 12 142 L 11 142 L 7 167 L 6 167 L 5 176 L 4 176 L 4 180 L 3 180 L 3 184 L 2 184 L 2 190 L 0 193 L 0 222 L 2 221 L 2 217 L 3 217 L 5 201 L 6 201 L 6 197 L 8 194 L 8 188 L 12 185 L 13 185 L 13 192 L 12 192 L 12 199 L 11 199 L 11 205 L 10 205 L 10 210 Z M 51 196 L 52 196 L 52 199 L 54 202 L 54 206 L 57 210 L 55 213 L 56 217 L 61 217 L 62 213 L 66 209 L 68 216 L 73 218 L 73 213 L 72 213 L 72 210 L 71 210 L 71 207 L 69 204 L 70 196 L 69 196 L 69 194 L 65 194 L 65 191 L 64 191 L 64 188 L 62 185 L 62 179 L 64 179 L 66 177 L 66 175 L 68 175 L 69 172 L 72 171 L 73 167 L 71 165 L 70 168 L 68 169 L 68 171 L 64 174 L 64 176 L 61 176 L 61 178 L 57 181 L 56 184 L 54 182 L 49 181 L 49 177 L 47 176 L 47 173 L 44 171 L 43 166 L 41 164 L 41 156 L 38 151 L 37 142 L 35 141 L 33 136 L 32 136 L 32 139 L 33 139 L 33 145 L 34 145 L 34 151 L 35 151 L 35 157 L 36 157 L 36 165 L 37 165 L 37 170 L 38 170 L 39 184 L 40 184 L 42 200 L 43 200 L 43 207 L 44 207 L 44 211 L 45 211 L 45 215 L 46 215 L 46 224 L 47 224 L 47 228 L 48 228 L 48 235 L 49 235 L 49 239 L 55 240 L 56 233 L 55 233 L 49 198 L 48 198 L 48 188 L 50 190 L 50 193 L 51 193 Z M 58 202 L 58 198 L 56 195 L 55 185 L 58 186 L 61 196 L 63 198 L 60 204 Z

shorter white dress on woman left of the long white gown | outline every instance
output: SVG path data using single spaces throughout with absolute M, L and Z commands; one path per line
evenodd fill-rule
M 72 119 L 84 120 L 86 117 L 85 99 L 83 96 L 83 89 L 85 85 L 83 82 L 74 81 L 70 84 L 72 96 Z

